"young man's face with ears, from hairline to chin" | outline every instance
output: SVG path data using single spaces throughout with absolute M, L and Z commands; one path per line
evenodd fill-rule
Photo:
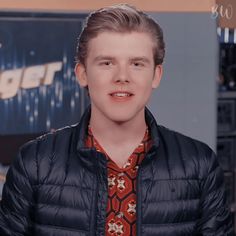
M 153 41 L 146 33 L 100 33 L 89 42 L 86 66 L 77 64 L 80 86 L 88 86 L 91 116 L 107 121 L 144 119 L 162 66 L 154 66 Z

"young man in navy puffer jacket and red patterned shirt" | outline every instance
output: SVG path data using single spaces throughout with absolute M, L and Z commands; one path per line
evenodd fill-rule
M 214 153 L 145 107 L 164 52 L 160 26 L 128 5 L 89 16 L 75 73 L 91 106 L 78 125 L 21 148 L 1 235 L 233 235 Z

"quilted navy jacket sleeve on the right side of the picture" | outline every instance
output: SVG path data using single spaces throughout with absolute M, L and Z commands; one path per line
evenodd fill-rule
M 224 176 L 215 154 L 208 150 L 200 164 L 202 209 L 199 232 L 203 236 L 233 236 L 231 214 L 226 203 Z

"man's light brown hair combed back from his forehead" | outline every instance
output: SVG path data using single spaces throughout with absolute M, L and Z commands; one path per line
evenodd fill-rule
M 78 38 L 76 62 L 86 66 L 89 41 L 103 32 L 148 33 L 153 39 L 154 64 L 163 63 L 165 43 L 161 27 L 151 17 L 128 4 L 119 4 L 101 8 L 92 12 L 86 19 Z

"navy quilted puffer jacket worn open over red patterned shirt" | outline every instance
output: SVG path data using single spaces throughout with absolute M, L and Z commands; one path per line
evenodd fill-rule
M 154 144 L 138 171 L 137 235 L 233 235 L 214 153 L 145 115 Z M 1 236 L 105 235 L 106 158 L 84 147 L 89 117 L 21 148 L 3 190 Z

